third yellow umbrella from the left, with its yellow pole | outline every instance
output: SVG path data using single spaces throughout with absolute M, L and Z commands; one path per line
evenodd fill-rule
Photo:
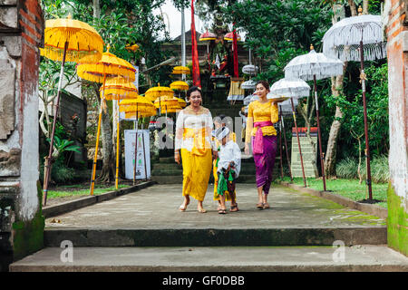
M 101 90 L 101 98 L 102 96 Z M 126 82 L 122 77 L 116 77 L 105 82 L 104 98 L 106 100 L 134 99 L 137 98 L 138 90 L 133 82 Z M 116 176 L 115 188 L 119 189 L 119 142 L 120 142 L 120 121 L 117 119 L 117 134 L 116 134 Z

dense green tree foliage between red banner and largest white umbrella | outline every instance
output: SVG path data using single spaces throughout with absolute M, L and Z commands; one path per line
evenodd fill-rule
M 238 31 L 247 33 L 246 46 L 267 63 L 258 78 L 269 82 L 284 77 L 285 65 L 294 56 L 307 53 L 311 43 L 318 50 L 331 24 L 330 6 L 316 0 L 244 0 L 223 11 Z

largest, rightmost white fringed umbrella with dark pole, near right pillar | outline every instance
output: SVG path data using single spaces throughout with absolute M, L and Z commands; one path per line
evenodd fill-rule
M 386 57 L 383 23 L 380 15 L 361 14 L 347 17 L 334 24 L 323 37 L 323 53 L 336 56 L 342 61 L 360 62 L 361 85 L 364 106 L 365 158 L 367 160 L 367 178 L 369 198 L 373 199 L 371 187 L 370 148 L 368 143 L 367 107 L 365 101 L 364 60 L 373 61 Z

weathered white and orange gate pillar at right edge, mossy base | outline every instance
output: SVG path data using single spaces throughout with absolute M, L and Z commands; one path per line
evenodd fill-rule
M 408 19 L 407 0 L 387 0 L 390 121 L 390 183 L 388 187 L 388 246 L 408 256 Z

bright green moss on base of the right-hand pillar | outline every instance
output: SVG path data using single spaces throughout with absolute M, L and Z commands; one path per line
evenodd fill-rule
M 403 198 L 398 197 L 391 182 L 388 184 L 388 246 L 408 256 L 408 212 L 403 207 Z

